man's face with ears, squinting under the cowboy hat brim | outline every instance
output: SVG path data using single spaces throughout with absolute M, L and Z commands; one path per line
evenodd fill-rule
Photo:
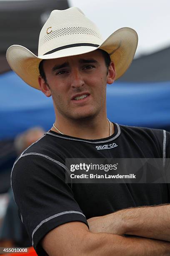
M 42 92 L 52 95 L 56 115 L 69 119 L 91 118 L 106 111 L 106 84 L 115 78 L 114 64 L 108 69 L 101 51 L 45 60 L 47 83 L 39 78 Z

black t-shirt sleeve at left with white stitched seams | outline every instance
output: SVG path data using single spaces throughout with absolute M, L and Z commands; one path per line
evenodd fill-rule
M 67 222 L 87 220 L 65 182 L 65 165 L 44 155 L 23 155 L 13 166 L 11 184 L 20 218 L 38 255 L 45 255 L 40 241 Z

